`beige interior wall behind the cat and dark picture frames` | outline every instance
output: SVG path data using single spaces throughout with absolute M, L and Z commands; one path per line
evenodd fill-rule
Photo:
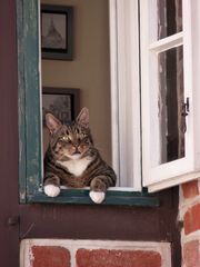
M 102 157 L 111 162 L 108 0 L 41 0 L 73 6 L 72 61 L 42 60 L 42 86 L 80 88 L 80 106 Z

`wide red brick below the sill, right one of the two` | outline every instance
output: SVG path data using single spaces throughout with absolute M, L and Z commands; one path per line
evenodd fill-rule
M 146 250 L 79 249 L 77 267 L 161 267 L 161 256 Z

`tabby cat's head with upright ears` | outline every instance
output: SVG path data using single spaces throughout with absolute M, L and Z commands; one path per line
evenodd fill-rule
M 81 110 L 77 120 L 69 125 L 62 125 L 52 115 L 47 115 L 46 119 L 51 134 L 51 151 L 57 160 L 80 159 L 92 146 L 87 109 Z

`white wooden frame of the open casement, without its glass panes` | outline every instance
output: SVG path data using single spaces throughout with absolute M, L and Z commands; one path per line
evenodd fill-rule
M 152 1 L 141 1 L 141 90 L 142 90 L 142 160 L 143 160 L 143 177 L 142 181 L 144 186 L 149 187 L 150 191 L 159 190 L 161 188 L 174 186 L 181 182 L 186 182 L 192 179 L 193 176 L 186 175 L 191 171 L 197 171 L 200 169 L 199 160 L 199 142 L 194 144 L 194 135 L 198 130 L 199 123 L 196 127 L 193 118 L 199 117 L 199 112 L 196 108 L 193 109 L 193 100 L 198 102 L 199 98 L 196 97 L 197 89 L 193 83 L 193 66 L 199 57 L 192 61 L 192 50 L 196 43 L 196 37 L 198 33 L 193 32 L 193 24 L 191 21 L 193 19 L 191 8 L 196 3 L 189 0 L 183 2 L 183 31 L 171 37 L 167 37 L 161 40 L 156 40 L 150 32 L 151 26 L 154 22 L 156 16 L 152 14 L 152 7 L 154 0 Z M 199 4 L 198 4 L 199 6 Z M 196 6 L 197 8 L 197 6 Z M 150 14 L 151 10 L 151 14 Z M 156 12 L 156 10 L 154 10 Z M 197 12 L 197 11 L 196 11 Z M 199 14 L 196 14 L 199 18 Z M 197 20 L 196 17 L 196 20 Z M 149 22 L 149 23 L 148 23 Z M 197 30 L 197 29 L 196 29 Z M 156 119 L 156 112 L 158 112 L 157 101 L 154 96 L 158 96 L 158 60 L 157 56 L 159 52 L 166 51 L 170 48 L 183 46 L 183 69 L 184 69 L 184 98 L 190 99 L 190 112 L 187 117 L 187 132 L 186 132 L 186 157 L 162 164 L 152 165 L 152 162 L 158 162 L 158 151 L 159 151 L 159 138 L 158 138 L 158 121 Z M 196 47 L 196 46 L 194 46 Z M 199 60 L 198 60 L 199 61 Z M 197 66 L 197 65 L 196 65 Z M 199 67 L 199 66 L 198 66 Z M 194 93 L 194 95 L 193 95 Z M 198 106 L 198 105 L 197 105 Z M 153 127 L 150 127 L 153 126 Z M 196 129 L 194 129 L 196 128 Z M 151 129 L 151 131 L 150 131 Z M 152 148 L 153 147 L 153 151 Z M 198 149 L 197 149 L 198 147 Z M 194 150 L 198 150 L 194 152 Z M 194 176 L 196 177 L 196 176 Z

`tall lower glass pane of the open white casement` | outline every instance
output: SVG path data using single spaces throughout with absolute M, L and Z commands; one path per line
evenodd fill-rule
M 186 117 L 183 112 L 183 49 L 169 49 L 158 56 L 158 134 L 157 162 L 166 164 L 184 157 Z M 152 132 L 152 131 L 151 131 Z M 153 151 L 153 147 L 151 151 Z

